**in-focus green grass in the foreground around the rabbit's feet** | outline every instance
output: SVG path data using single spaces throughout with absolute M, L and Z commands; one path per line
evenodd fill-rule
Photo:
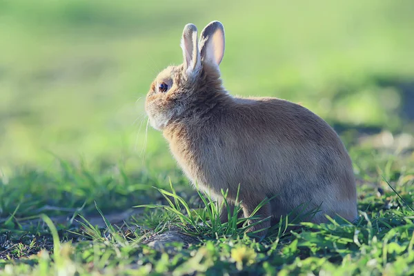
M 372 160 L 370 155 L 359 158 Z M 274 275 L 276 272 L 279 275 L 310 272 L 411 275 L 414 273 L 413 160 L 402 156 L 395 162 L 380 155 L 374 158 L 377 170 L 366 170 L 359 175 L 364 180 L 359 185 L 360 213 L 355 224 L 332 221 L 290 228 L 288 218 L 273 226 L 266 239 L 255 242 L 251 239 L 254 235 L 245 234 L 246 229 L 235 228 L 235 224 L 244 222 L 237 219 L 237 214 L 230 216 L 228 224 L 220 224 L 218 206 L 208 197 L 198 194 L 197 202 L 191 194 L 176 191 L 166 179 L 158 185 L 164 188 L 151 189 L 146 184 L 145 193 L 153 196 L 148 199 L 151 203 L 140 206 L 144 213 L 128 217 L 122 224 L 110 224 L 106 219 L 101 210 L 106 206 L 105 201 L 86 204 L 103 218 L 100 226 L 90 224 L 86 218 L 91 216 L 92 209 L 66 213 L 67 217 L 75 216 L 77 225 L 68 222 L 54 225 L 44 215 L 35 219 L 39 217 L 35 212 L 25 218 L 28 211 L 19 206 L 6 222 L 3 220 L 0 266 L 3 273 L 13 275 L 55 275 L 59 271 L 69 275 Z M 75 174 L 71 177 L 79 178 Z M 44 199 L 39 196 L 32 199 L 32 204 L 41 205 L 39 201 Z M 81 194 L 78 197 L 83 198 Z M 53 218 L 61 211 L 43 213 Z M 189 248 L 177 244 L 161 251 L 146 245 L 151 235 L 176 226 L 181 232 L 197 237 L 199 243 Z

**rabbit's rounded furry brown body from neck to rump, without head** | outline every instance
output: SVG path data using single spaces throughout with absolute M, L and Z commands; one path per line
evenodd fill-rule
M 344 144 L 323 119 L 290 101 L 235 98 L 200 120 L 180 121 L 164 135 L 184 172 L 201 190 L 219 197 L 273 197 L 273 214 L 300 204 L 355 219 L 353 167 Z M 253 200 L 253 199 L 252 199 Z

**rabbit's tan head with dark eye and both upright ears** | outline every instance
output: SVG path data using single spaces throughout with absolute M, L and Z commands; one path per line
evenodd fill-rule
M 152 81 L 146 97 L 146 112 L 151 126 L 157 130 L 193 112 L 201 115 L 203 109 L 214 106 L 215 101 L 210 98 L 226 93 L 219 72 L 224 55 L 223 25 L 219 21 L 209 23 L 197 41 L 197 28 L 187 24 L 181 48 L 184 62 L 161 71 Z

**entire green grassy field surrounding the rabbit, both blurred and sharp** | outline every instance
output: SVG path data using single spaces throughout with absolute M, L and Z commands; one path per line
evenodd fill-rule
M 0 1 L 0 275 L 414 275 L 413 12 L 374 0 Z M 182 28 L 213 20 L 233 95 L 301 102 L 341 130 L 357 223 L 288 217 L 250 239 L 235 214 L 219 223 L 146 131 L 146 91 L 181 62 Z M 199 243 L 146 245 L 169 228 Z

